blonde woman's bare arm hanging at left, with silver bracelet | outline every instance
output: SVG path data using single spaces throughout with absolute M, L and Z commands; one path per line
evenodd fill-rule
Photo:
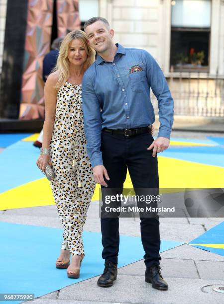
M 47 81 L 44 86 L 45 120 L 43 125 L 43 149 L 49 149 L 54 128 L 55 110 L 57 102 L 57 90 L 55 88 L 55 85 L 57 83 L 57 80 L 57 72 L 52 73 L 47 77 Z M 45 171 L 47 163 L 51 165 L 49 154 L 40 155 L 36 161 L 36 164 L 42 171 Z

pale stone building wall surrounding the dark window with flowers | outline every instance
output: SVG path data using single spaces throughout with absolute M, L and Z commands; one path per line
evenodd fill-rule
M 172 65 L 171 55 L 177 52 L 171 50 L 172 6 L 181 1 L 190 1 L 192 11 L 209 14 L 209 26 L 198 32 L 199 39 L 207 33 L 207 66 L 188 64 L 175 69 Z M 145 49 L 157 60 L 175 98 L 177 115 L 224 117 L 224 0 L 99 0 L 98 5 L 99 15 L 115 30 L 114 42 Z M 190 17 L 191 11 L 187 13 Z M 156 108 L 153 94 L 152 99 Z

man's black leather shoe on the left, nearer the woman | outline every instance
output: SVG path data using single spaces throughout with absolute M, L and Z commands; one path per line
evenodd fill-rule
M 109 261 L 105 263 L 104 273 L 98 279 L 97 285 L 100 287 L 111 287 L 117 276 L 117 264 Z

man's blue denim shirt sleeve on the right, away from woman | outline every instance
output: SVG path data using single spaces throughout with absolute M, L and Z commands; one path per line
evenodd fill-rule
M 166 78 L 155 59 L 143 50 L 142 60 L 147 67 L 147 79 L 154 95 L 158 100 L 159 107 L 159 133 L 158 137 L 170 138 L 173 125 L 173 98 L 169 90 Z

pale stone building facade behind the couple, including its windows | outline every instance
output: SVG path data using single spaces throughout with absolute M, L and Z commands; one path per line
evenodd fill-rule
M 0 0 L 0 70 L 6 3 Z M 115 30 L 114 42 L 145 49 L 156 59 L 176 114 L 224 117 L 224 0 L 79 0 L 79 10 L 82 25 L 93 16 L 105 17 Z M 189 53 L 192 41 L 187 62 L 182 53 L 187 45 Z M 153 94 L 152 100 L 156 108 Z

